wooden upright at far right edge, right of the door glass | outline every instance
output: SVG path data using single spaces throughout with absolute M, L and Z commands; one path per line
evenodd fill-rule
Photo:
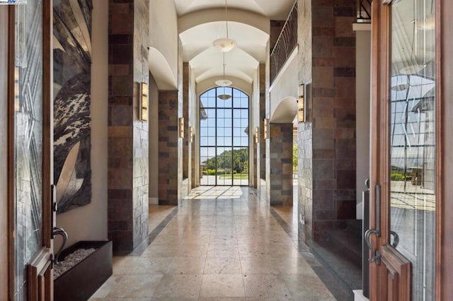
M 440 3 L 439 3 L 440 2 Z M 436 1 L 437 163 L 436 300 L 453 300 L 453 1 Z M 445 129 L 445 131 L 442 131 Z M 450 131 L 448 131 L 450 129 Z

